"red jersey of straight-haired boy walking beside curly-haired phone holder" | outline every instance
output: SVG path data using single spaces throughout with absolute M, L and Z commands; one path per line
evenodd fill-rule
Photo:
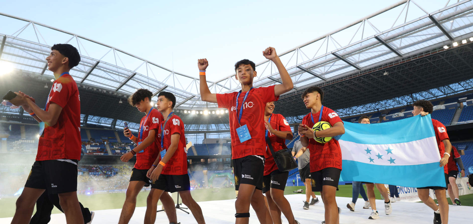
M 165 121 L 162 122 L 164 124 Z M 161 133 L 161 130 L 160 132 Z M 187 150 L 185 148 L 184 123 L 181 118 L 175 114 L 169 117 L 164 127 L 163 145 L 167 149 L 171 145 L 171 135 L 180 134 L 179 143 L 174 155 L 167 161 L 162 174 L 183 175 L 187 174 Z M 166 152 L 167 153 L 167 152 Z

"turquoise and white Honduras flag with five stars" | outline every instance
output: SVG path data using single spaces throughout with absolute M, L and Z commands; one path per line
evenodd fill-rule
M 345 122 L 340 181 L 446 187 L 430 114 L 377 124 Z

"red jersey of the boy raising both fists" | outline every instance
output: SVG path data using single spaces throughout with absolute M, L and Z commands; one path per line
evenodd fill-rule
M 236 108 L 236 95 L 238 92 L 228 94 L 217 94 L 217 103 L 220 108 L 228 109 L 230 120 L 230 136 L 232 139 L 232 159 L 242 158 L 248 155 L 265 155 L 266 142 L 264 141 L 264 108 L 267 102 L 278 100 L 274 95 L 274 86 L 258 87 L 250 90 L 245 103 L 240 124 L 238 115 L 246 92 L 242 92 L 238 99 L 238 110 Z M 243 125 L 248 127 L 251 139 L 240 142 L 236 129 Z

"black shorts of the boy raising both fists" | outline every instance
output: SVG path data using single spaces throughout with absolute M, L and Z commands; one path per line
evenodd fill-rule
M 233 172 L 235 175 L 235 190 L 240 184 L 251 184 L 256 189 L 263 190 L 263 155 L 247 155 L 242 158 L 233 159 Z

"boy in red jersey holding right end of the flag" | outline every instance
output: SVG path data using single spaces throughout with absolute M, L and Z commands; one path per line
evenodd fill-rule
M 414 116 L 421 115 L 425 116 L 429 113 L 432 113 L 434 105 L 428 100 L 419 100 L 412 104 L 414 110 L 412 114 Z M 448 138 L 447 129 L 445 125 L 440 123 L 435 119 L 432 119 L 432 124 L 434 126 L 435 138 L 437 139 L 438 151 L 440 152 L 440 167 L 444 167 L 445 172 L 445 182 L 448 185 L 448 171 L 447 171 L 447 162 L 448 157 L 450 157 L 450 152 L 452 151 L 452 144 Z M 435 204 L 434 199 L 429 197 L 429 189 L 435 191 L 435 196 L 438 200 L 438 206 Z M 424 204 L 434 210 L 434 224 L 447 224 L 448 223 L 448 201 L 446 187 L 443 186 L 431 186 L 425 188 L 417 188 L 417 194 Z

